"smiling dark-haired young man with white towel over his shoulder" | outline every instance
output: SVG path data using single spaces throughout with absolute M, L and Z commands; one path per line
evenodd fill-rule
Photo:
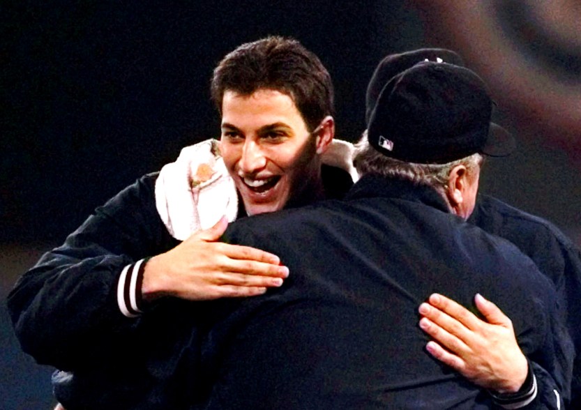
M 173 352 L 190 301 L 264 294 L 289 274 L 276 255 L 218 242 L 227 221 L 352 185 L 351 146 L 333 142 L 331 77 L 298 41 L 237 47 L 211 86 L 220 142 L 187 147 L 119 192 L 8 296 L 24 351 L 70 371 L 54 377 L 67 409 L 179 408 L 192 386 L 172 385 L 175 362 L 142 358 Z

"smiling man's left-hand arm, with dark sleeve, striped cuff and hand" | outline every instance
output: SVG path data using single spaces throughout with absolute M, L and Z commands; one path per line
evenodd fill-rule
M 155 181 L 144 176 L 97 208 L 10 292 L 17 337 L 38 363 L 72 370 L 133 349 L 146 302 L 160 296 L 251 296 L 287 275 L 275 255 L 218 242 L 225 220 L 183 243 L 172 238 Z

